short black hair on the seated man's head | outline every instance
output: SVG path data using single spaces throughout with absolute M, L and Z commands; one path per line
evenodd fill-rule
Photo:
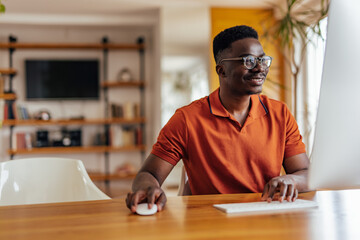
M 219 55 L 223 50 L 229 48 L 233 42 L 244 38 L 259 39 L 259 36 L 255 29 L 246 25 L 227 28 L 216 35 L 213 41 L 215 62 L 218 63 Z

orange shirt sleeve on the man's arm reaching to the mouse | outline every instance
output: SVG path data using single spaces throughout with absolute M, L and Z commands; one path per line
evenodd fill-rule
M 161 129 L 151 153 L 176 165 L 186 154 L 187 126 L 184 113 L 177 110 Z

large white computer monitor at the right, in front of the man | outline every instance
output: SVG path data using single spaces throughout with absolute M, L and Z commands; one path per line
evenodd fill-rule
M 360 187 L 360 1 L 331 0 L 309 187 Z

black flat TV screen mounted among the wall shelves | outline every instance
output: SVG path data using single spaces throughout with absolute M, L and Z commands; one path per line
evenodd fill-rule
M 26 99 L 99 99 L 99 61 L 25 60 Z

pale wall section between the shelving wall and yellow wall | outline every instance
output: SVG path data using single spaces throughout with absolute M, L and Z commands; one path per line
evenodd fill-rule
M 204 89 L 198 89 L 191 82 L 194 72 L 204 72 L 205 85 L 208 85 L 210 11 L 206 5 L 169 5 L 162 8 L 161 20 L 161 36 L 164 39 L 161 58 L 161 122 L 165 125 L 177 108 L 195 100 L 192 98 L 194 92 L 198 95 L 204 93 Z M 183 80 L 182 84 L 186 86 L 176 90 L 174 85 L 179 80 Z M 208 94 L 208 89 L 201 97 Z M 180 182 L 181 170 L 182 163 L 173 168 L 164 185 L 176 186 Z

